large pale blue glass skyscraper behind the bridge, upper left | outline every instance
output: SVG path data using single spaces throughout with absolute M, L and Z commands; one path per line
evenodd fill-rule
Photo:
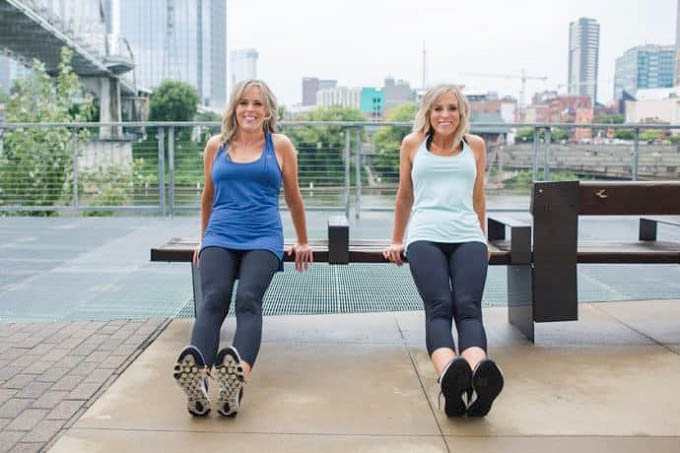
M 227 99 L 226 0 L 103 0 L 109 33 L 130 44 L 137 86 L 180 80 L 201 103 L 221 109 Z

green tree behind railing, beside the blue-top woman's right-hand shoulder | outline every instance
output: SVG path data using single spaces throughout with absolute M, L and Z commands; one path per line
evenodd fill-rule
M 350 107 L 319 107 L 300 118 L 301 121 L 365 121 L 364 114 Z M 338 185 L 344 181 L 345 127 L 289 126 L 282 129 L 298 150 L 298 174 L 301 185 Z M 356 135 L 350 134 L 356 149 Z M 350 163 L 351 166 L 354 163 Z M 351 172 L 354 177 L 354 172 Z

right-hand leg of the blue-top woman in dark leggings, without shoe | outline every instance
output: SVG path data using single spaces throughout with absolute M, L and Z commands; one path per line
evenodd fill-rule
M 262 341 L 262 297 L 278 267 L 278 258 L 267 250 L 249 250 L 241 258 L 234 347 L 241 356 L 246 377 Z

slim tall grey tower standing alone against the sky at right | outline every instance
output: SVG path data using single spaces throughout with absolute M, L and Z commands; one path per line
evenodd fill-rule
M 597 100 L 597 65 L 600 47 L 600 24 L 595 19 L 581 17 L 569 23 L 570 96 L 590 96 Z

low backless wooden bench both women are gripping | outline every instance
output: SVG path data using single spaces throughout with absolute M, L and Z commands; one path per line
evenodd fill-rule
M 389 235 L 385 230 L 385 235 Z M 389 245 L 389 239 L 353 239 L 349 238 L 349 224 L 345 216 L 332 216 L 328 219 L 328 239 L 310 241 L 315 263 L 348 264 L 348 263 L 387 263 L 382 251 Z M 288 249 L 293 241 L 285 241 L 284 249 Z M 194 249 L 198 245 L 195 239 L 173 238 L 159 247 L 151 249 L 151 261 L 191 263 Z M 511 264 L 511 252 L 491 246 L 492 265 Z M 284 261 L 295 261 L 294 256 L 284 254 Z M 200 274 L 198 268 L 191 263 L 191 276 L 194 293 L 194 310 L 203 299 L 201 294 Z

